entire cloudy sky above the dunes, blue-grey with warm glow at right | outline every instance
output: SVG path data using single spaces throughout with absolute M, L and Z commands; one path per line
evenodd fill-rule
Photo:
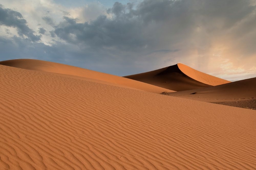
M 177 63 L 256 77 L 256 0 L 1 0 L 0 61 L 124 76 Z

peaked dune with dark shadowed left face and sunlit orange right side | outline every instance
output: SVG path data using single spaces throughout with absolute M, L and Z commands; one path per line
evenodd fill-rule
M 128 75 L 125 78 L 153 84 L 175 91 L 197 89 L 229 83 L 212 75 L 197 71 L 184 64 L 176 64 L 140 74 Z

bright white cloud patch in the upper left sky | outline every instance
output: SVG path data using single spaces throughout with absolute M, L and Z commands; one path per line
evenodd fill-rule
M 2 0 L 1 4 L 5 8 L 18 11 L 26 19 L 27 25 L 30 29 L 37 34 L 40 28 L 44 28 L 48 34 L 42 36 L 41 41 L 44 44 L 52 44 L 52 37 L 49 31 L 53 30 L 53 27 L 45 22 L 43 17 L 49 17 L 55 23 L 59 23 L 63 20 L 63 16 L 68 14 L 69 17 L 77 18 L 79 22 L 86 22 L 97 18 L 104 12 L 104 8 L 100 3 L 92 2 L 80 7 L 68 8 L 61 4 L 54 3 L 53 0 Z M 21 7 L 22 6 L 22 7 Z M 1 35 L 6 35 L 5 28 L 0 28 Z M 10 29 L 13 35 L 17 35 L 15 29 Z M 60 40 L 55 38 L 54 40 Z

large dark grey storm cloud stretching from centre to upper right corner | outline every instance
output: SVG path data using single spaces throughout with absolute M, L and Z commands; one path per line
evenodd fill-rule
M 159 50 L 182 41 L 191 43 L 197 28 L 211 37 L 225 34 L 253 11 L 255 6 L 250 5 L 250 0 L 144 0 L 136 7 L 115 2 L 107 10 L 112 18 L 101 15 L 93 21 L 77 23 L 65 16 L 54 32 L 69 43 L 93 48 Z M 194 41 L 204 41 L 200 39 L 204 36 L 201 34 Z

